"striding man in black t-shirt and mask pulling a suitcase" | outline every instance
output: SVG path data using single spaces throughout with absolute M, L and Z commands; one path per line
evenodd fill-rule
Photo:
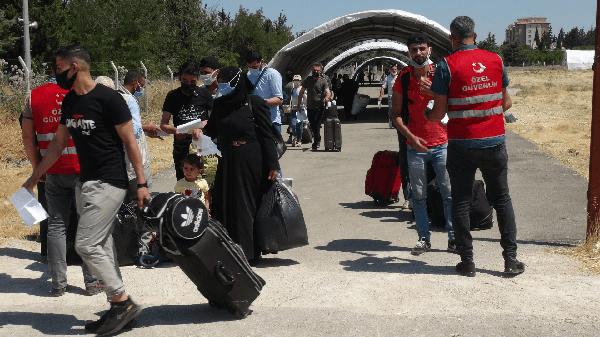
M 23 186 L 34 188 L 73 137 L 81 167 L 75 191 L 80 216 L 75 249 L 94 275 L 103 280 L 110 302 L 110 309 L 100 320 L 86 324 L 85 330 L 98 336 L 110 335 L 125 326 L 133 327 L 142 310 L 125 294 L 111 235 L 128 185 L 123 146 L 137 175 L 140 208 L 150 194 L 131 114 L 121 95 L 92 80 L 85 47 L 71 44 L 56 50 L 54 56 L 56 83 L 65 90 L 73 89 L 62 101 L 56 136 Z

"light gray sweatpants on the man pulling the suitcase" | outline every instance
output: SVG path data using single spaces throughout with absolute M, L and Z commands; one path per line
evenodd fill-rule
M 99 180 L 78 182 L 75 191 L 79 213 L 75 249 L 94 275 L 103 281 L 109 300 L 125 291 L 111 234 L 126 193 L 127 189 Z

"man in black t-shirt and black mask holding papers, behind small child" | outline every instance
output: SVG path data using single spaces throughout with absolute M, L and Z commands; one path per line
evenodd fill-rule
M 179 133 L 177 127 L 187 122 L 202 119 L 202 127 L 208 122 L 208 114 L 212 110 L 211 92 L 206 88 L 196 86 L 200 76 L 200 67 L 196 62 L 185 62 L 179 67 L 178 77 L 181 88 L 169 91 L 164 98 L 163 118 L 160 121 L 161 129 L 169 134 L 175 135 L 173 141 L 173 163 L 175 164 L 175 176 L 177 180 L 184 179 L 184 171 L 181 169 L 181 161 L 190 153 L 191 135 Z M 169 121 L 173 116 L 173 125 Z

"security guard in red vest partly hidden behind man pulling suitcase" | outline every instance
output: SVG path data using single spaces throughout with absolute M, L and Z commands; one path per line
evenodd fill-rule
M 54 73 L 53 69 L 52 73 Z M 23 144 L 34 170 L 40 163 L 38 145 L 43 157 L 56 134 L 61 119 L 62 98 L 67 92 L 68 90 L 59 88 L 56 81 L 51 79 L 46 85 L 33 89 L 25 99 Z M 67 290 L 66 234 L 78 178 L 79 158 L 73 140 L 70 139 L 67 148 L 56 163 L 46 171 L 45 192 L 50 215 L 47 236 L 48 266 L 54 296 L 62 296 Z M 83 263 L 83 281 L 85 294 L 88 296 L 104 290 L 103 285 L 85 263 Z

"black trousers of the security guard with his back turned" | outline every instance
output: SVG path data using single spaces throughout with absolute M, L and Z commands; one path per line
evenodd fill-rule
M 517 258 L 517 224 L 508 191 L 506 143 L 493 148 L 460 148 L 448 143 L 446 169 L 452 186 L 452 227 L 461 260 L 473 260 L 469 212 L 477 169 L 484 177 L 488 200 L 496 209 L 502 255 L 505 260 Z

